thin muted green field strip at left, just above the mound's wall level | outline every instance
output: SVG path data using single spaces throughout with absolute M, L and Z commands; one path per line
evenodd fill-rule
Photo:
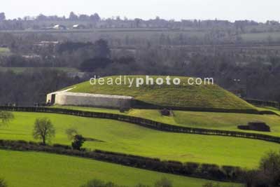
M 78 72 L 78 69 L 68 68 L 68 67 L 0 67 L 0 71 L 13 71 L 16 74 L 25 71 L 39 71 L 42 69 L 55 69 L 57 71 L 64 71 L 64 72 Z

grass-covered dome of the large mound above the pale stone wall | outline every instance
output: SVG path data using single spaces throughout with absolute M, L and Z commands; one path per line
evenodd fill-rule
M 137 78 L 145 76 L 127 76 L 127 78 Z M 157 78 L 156 76 L 153 76 Z M 118 78 L 118 76 L 113 76 Z M 135 83 L 135 81 L 134 81 Z M 186 85 L 183 85 L 186 83 Z M 143 85 L 137 88 L 132 85 L 129 88 L 124 83 L 122 85 L 90 85 L 89 81 L 80 83 L 71 92 L 87 92 L 107 95 L 129 95 L 151 104 L 166 106 L 192 106 L 192 107 L 212 107 L 221 109 L 252 109 L 253 106 L 244 102 L 232 93 L 223 90 L 218 85 L 188 85 L 188 78 L 181 77 L 181 85 Z

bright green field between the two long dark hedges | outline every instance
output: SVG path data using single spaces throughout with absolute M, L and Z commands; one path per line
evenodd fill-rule
M 7 127 L 0 128 L 0 139 L 33 140 L 31 131 L 34 120 L 39 116 L 50 118 L 56 127 L 57 134 L 52 143 L 70 144 L 64 131 L 69 127 L 77 127 L 85 137 L 106 141 L 86 142 L 87 148 L 144 155 L 162 160 L 256 167 L 266 151 L 280 149 L 280 144 L 267 141 L 160 132 L 114 120 L 50 113 L 16 112 L 15 120 Z

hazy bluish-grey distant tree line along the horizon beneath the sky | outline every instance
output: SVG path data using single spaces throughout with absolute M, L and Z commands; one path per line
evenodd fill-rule
M 98 13 L 92 15 L 76 14 L 73 11 L 69 16 L 37 15 L 25 16 L 24 18 L 6 19 L 5 13 L 0 13 L 0 29 L 40 29 L 43 25 L 51 26 L 58 22 L 81 22 L 90 28 L 168 28 L 168 29 L 211 29 L 213 27 L 230 29 L 235 32 L 271 32 L 279 30 L 279 21 L 267 20 L 267 22 L 255 22 L 253 20 L 165 20 L 156 16 L 148 20 L 141 18 L 128 19 L 126 17 L 112 16 L 101 18 Z M 51 24 L 52 23 L 52 24 Z M 99 26 L 97 23 L 100 23 Z

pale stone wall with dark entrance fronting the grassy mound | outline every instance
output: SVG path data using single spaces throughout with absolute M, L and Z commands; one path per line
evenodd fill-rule
M 95 106 L 105 108 L 121 108 L 132 106 L 133 97 L 120 95 L 101 95 L 69 92 L 63 90 L 47 95 L 47 103 L 71 106 Z

